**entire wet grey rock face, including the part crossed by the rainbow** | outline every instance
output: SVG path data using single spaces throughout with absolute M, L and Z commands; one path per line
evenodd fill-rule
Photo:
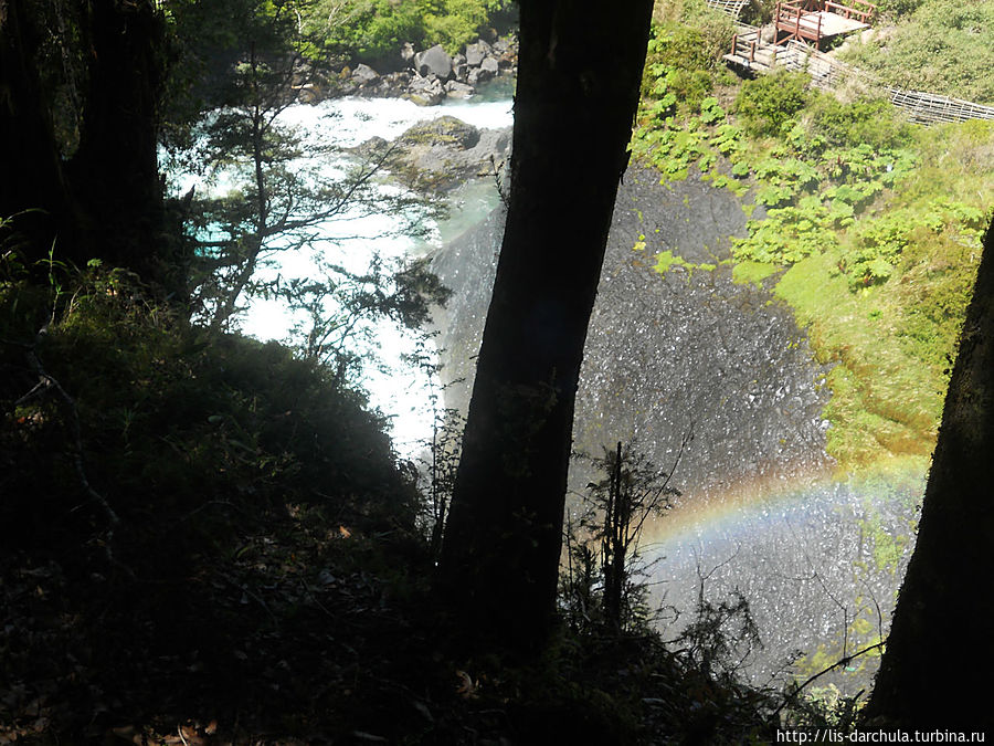
M 503 225 L 496 210 L 432 264 L 454 291 L 435 317 L 443 377 L 463 379 L 446 389 L 445 402 L 464 412 Z M 766 683 L 794 650 L 825 645 L 829 660 L 852 652 L 857 612 L 876 628 L 874 603 L 886 613 L 901 567 L 874 559 L 867 521 L 887 536 L 906 535 L 921 482 L 822 479 L 829 464 L 821 411 L 829 393 L 817 380 L 827 369 L 812 359 L 789 309 L 766 290 L 734 284 L 719 264 L 728 237 L 744 225 L 740 201 L 726 190 L 694 178 L 660 186 L 652 172 L 628 170 L 588 333 L 573 446 L 601 455 L 602 446 L 634 440 L 637 452 L 669 470 L 692 427 L 670 483 L 680 505 L 646 525 L 649 600 L 680 611 L 666 622 L 673 638 L 694 619 L 699 592 L 716 603 L 744 593 L 765 644 L 747 671 Z M 697 266 L 673 264 L 660 276 L 655 254 L 666 250 Z M 583 494 L 601 476 L 577 460 L 570 488 Z M 855 694 L 873 672 L 869 665 L 833 683 Z

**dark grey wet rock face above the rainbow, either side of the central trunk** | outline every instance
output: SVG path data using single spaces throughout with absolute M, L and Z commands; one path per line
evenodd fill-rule
M 653 269 L 665 250 L 717 265 L 728 258 L 729 235 L 744 225 L 739 200 L 726 190 L 694 178 L 660 186 L 651 172 L 630 169 L 588 333 L 577 451 L 600 455 L 602 446 L 634 440 L 669 466 L 692 429 L 674 480 L 685 493 L 825 463 L 819 414 L 828 393 L 817 378 L 826 370 L 812 360 L 790 312 L 766 291 L 732 283 L 728 266 L 673 266 L 665 276 Z M 483 334 L 501 227 L 497 212 L 433 263 L 454 292 L 438 319 L 443 375 L 467 379 L 446 395 L 450 406 L 468 402 L 475 364 L 467 361 Z M 589 477 L 571 481 L 582 486 Z

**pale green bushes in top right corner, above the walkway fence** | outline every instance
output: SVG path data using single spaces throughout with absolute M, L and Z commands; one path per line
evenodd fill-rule
M 901 23 L 845 53 L 847 62 L 890 85 L 994 103 L 994 1 L 895 0 Z

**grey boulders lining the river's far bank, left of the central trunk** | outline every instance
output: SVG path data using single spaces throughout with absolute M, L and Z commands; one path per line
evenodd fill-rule
M 399 70 L 380 73 L 359 63 L 345 66 L 321 82 L 294 86 L 300 103 L 311 104 L 335 96 L 408 98 L 420 106 L 436 106 L 446 98 L 468 98 L 477 88 L 498 77 L 517 73 L 518 40 L 514 35 L 477 39 L 456 55 L 441 44 L 415 51 L 410 43 L 400 51 Z

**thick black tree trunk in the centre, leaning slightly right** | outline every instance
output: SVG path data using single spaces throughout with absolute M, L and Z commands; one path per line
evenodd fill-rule
M 507 227 L 455 492 L 443 585 L 467 634 L 549 631 L 580 363 L 652 0 L 522 0 Z

